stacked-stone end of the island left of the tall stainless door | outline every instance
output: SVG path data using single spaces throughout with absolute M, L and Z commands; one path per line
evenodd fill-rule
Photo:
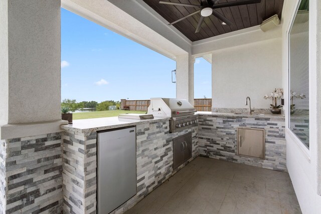
M 63 211 L 96 212 L 96 131 L 63 134 Z

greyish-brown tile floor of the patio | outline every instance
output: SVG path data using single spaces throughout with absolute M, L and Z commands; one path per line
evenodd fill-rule
M 197 157 L 128 213 L 301 213 L 288 173 Z

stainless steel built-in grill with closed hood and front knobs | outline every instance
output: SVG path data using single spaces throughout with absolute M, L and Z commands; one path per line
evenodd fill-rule
M 170 132 L 178 132 L 197 125 L 195 108 L 185 99 L 151 98 L 147 114 L 169 117 Z

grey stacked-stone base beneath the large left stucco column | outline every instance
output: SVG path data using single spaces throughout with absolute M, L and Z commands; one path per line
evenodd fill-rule
M 2 213 L 61 213 L 61 133 L 2 140 Z

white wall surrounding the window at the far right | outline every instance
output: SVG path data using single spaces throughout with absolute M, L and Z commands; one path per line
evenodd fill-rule
M 287 41 L 286 35 L 290 20 L 294 16 L 296 1 L 285 1 L 282 26 L 282 76 L 287 77 Z M 321 3 L 310 1 L 309 6 L 309 150 L 302 146 L 298 138 L 286 128 L 286 165 L 299 201 L 302 213 L 320 213 L 321 210 L 321 53 L 320 27 Z M 283 86 L 288 95 L 287 78 Z M 285 105 L 288 107 L 288 102 Z M 285 108 L 287 110 L 287 108 Z M 287 113 L 287 111 L 286 111 Z M 288 115 L 286 114 L 288 127 Z

